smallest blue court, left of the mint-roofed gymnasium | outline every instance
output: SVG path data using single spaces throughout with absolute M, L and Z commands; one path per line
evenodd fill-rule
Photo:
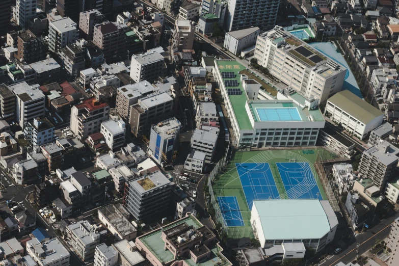
M 235 196 L 218 197 L 218 204 L 227 226 L 244 226 L 243 216 Z

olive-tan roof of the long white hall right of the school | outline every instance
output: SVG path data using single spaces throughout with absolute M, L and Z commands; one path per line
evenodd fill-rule
M 355 117 L 359 121 L 367 124 L 376 117 L 384 115 L 363 99 L 350 92 L 349 90 L 340 91 L 328 99 L 331 103 Z

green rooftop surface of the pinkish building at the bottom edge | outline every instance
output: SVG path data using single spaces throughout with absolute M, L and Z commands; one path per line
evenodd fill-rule
M 195 229 L 201 227 L 202 225 L 197 221 L 197 219 L 195 219 L 194 217 L 192 217 L 191 215 L 189 215 L 186 218 L 180 219 L 174 223 L 171 223 L 169 225 L 166 225 L 162 228 L 159 228 L 155 231 L 150 232 L 149 234 L 140 236 L 140 240 L 141 242 L 152 252 L 152 254 L 155 255 L 155 257 L 161 261 L 162 264 L 166 264 L 167 262 L 170 262 L 172 260 L 174 260 L 174 256 L 172 254 L 172 252 L 170 252 L 168 249 L 165 250 L 165 242 L 162 240 L 161 235 L 162 235 L 162 231 L 163 230 L 167 230 L 171 227 L 174 227 L 176 225 L 182 224 L 182 223 L 187 223 L 189 226 L 193 226 Z M 218 262 L 220 262 L 220 264 L 218 264 L 219 266 L 223 266 L 226 264 L 229 264 L 228 261 L 225 260 L 221 260 L 217 254 L 219 253 L 220 250 L 222 250 L 220 247 L 218 247 L 218 245 L 214 245 L 214 246 L 208 246 L 208 248 L 211 250 L 211 255 L 210 258 L 202 261 L 198 264 L 194 263 L 194 261 L 190 258 L 184 258 L 184 261 L 192 266 L 213 266 L 213 265 L 217 265 Z M 218 250 L 219 248 L 219 250 Z

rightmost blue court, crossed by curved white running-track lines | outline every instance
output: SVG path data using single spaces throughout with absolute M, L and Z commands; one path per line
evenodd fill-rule
M 309 163 L 276 163 L 289 199 L 323 199 Z

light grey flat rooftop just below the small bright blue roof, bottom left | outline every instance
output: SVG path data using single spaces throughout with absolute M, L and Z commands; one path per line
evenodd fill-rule
M 41 244 L 37 238 L 28 241 L 26 244 L 30 244 L 35 250 L 39 251 L 39 254 L 45 252 L 45 256 L 37 258 L 44 265 L 49 264 L 55 260 L 63 257 L 69 257 L 69 251 L 61 244 L 57 237 L 52 238 L 49 241 Z

